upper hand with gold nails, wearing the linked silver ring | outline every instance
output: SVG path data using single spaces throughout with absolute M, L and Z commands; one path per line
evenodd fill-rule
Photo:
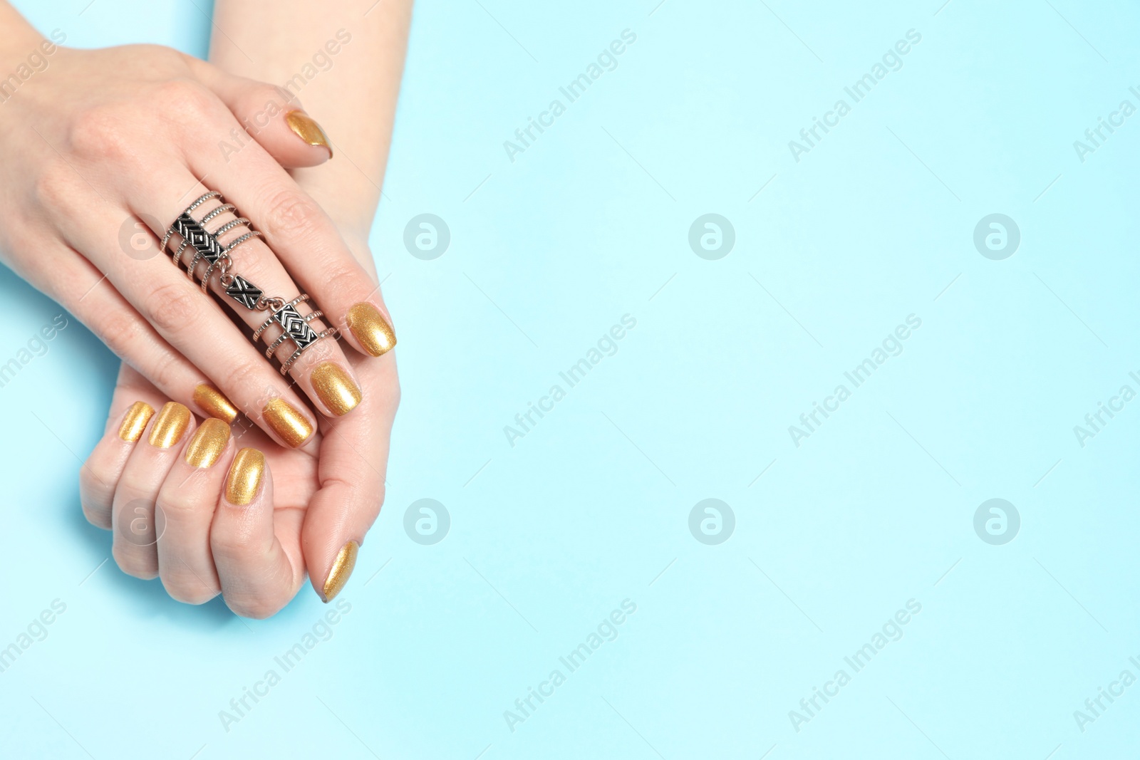
M 341 344 L 312 344 L 287 381 L 264 356 L 283 330 L 274 324 L 259 348 L 234 325 L 256 328 L 269 312 L 226 297 L 217 270 L 218 297 L 204 294 L 158 240 L 196 198 L 218 190 L 269 243 L 236 248 L 233 272 L 285 302 L 308 293 L 353 349 L 385 353 L 396 338 L 378 287 L 284 169 L 331 157 L 320 128 L 272 85 L 162 47 L 55 47 L 26 25 L 11 34 L 13 15 L 0 2 L 0 72 L 21 72 L 0 80 L 0 97 L 8 96 L 0 101 L 0 258 L 164 397 L 226 422 L 242 411 L 278 443 L 312 444 L 325 420 L 299 393 L 327 418 L 361 398 Z M 47 62 L 42 71 L 26 65 L 33 54 Z M 217 215 L 210 228 L 233 219 Z M 235 227 L 223 243 L 243 231 Z M 193 253 L 189 246 L 184 267 Z M 204 269 L 199 262 L 197 275 Z M 287 341 L 277 350 L 282 360 L 292 353 Z

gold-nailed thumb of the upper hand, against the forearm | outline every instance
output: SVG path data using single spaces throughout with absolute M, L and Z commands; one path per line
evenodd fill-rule
M 252 138 L 285 169 L 317 166 L 333 157 L 325 130 L 285 88 L 227 74 L 197 58 L 189 64 L 198 81 L 226 104 L 245 129 L 246 134 L 233 136 L 235 153 Z

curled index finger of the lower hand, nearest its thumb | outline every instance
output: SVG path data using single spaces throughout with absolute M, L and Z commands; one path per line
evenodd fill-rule
M 276 513 L 276 514 L 275 514 Z M 234 457 L 210 529 L 210 547 L 226 604 L 243 618 L 268 618 L 288 604 L 304 580 L 296 541 L 301 509 L 274 509 L 274 482 L 264 455 L 242 449 Z

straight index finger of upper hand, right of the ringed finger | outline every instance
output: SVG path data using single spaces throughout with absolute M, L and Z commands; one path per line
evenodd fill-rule
M 358 351 L 380 357 L 396 346 L 380 286 L 356 260 L 336 226 L 264 150 L 251 146 L 229 163 L 205 152 L 190 169 L 254 221 L 288 275 L 312 295 Z

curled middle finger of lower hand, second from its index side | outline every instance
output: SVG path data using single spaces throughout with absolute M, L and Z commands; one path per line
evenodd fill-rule
M 221 593 L 210 551 L 210 524 L 236 446 L 229 425 L 207 419 L 188 436 L 158 491 L 165 515 L 158 577 L 179 602 L 203 604 Z

